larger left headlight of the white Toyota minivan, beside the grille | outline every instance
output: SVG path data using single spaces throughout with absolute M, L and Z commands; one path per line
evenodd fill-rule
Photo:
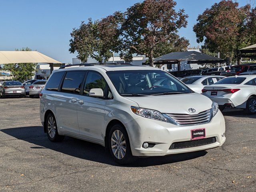
M 151 110 L 151 109 L 144 109 L 144 108 L 139 108 L 139 107 L 133 107 L 133 106 L 131 106 L 131 110 L 132 110 L 132 112 L 134 112 L 135 114 L 137 114 L 139 116 L 146 117 L 149 119 L 158 120 L 158 121 L 167 122 L 166 119 L 164 118 L 164 116 L 162 115 L 162 113 L 160 113 L 159 111 L 155 111 L 155 110 Z

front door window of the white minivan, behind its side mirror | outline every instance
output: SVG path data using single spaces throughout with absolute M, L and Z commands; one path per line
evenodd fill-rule
M 84 95 L 88 96 L 90 90 L 93 88 L 101 88 L 105 94 L 106 84 L 106 80 L 100 74 L 95 72 L 88 72 L 84 85 Z

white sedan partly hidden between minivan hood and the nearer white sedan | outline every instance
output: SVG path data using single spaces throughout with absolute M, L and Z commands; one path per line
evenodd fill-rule
M 190 76 L 181 79 L 181 81 L 186 84 L 194 92 L 202 93 L 202 89 L 206 85 L 212 85 L 219 80 L 225 78 L 225 76 L 217 75 L 205 75 L 205 76 Z

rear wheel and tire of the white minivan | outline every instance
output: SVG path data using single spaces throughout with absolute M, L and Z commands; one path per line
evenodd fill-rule
M 60 142 L 64 139 L 64 136 L 58 134 L 58 126 L 52 113 L 48 114 L 45 126 L 46 134 L 51 142 Z

